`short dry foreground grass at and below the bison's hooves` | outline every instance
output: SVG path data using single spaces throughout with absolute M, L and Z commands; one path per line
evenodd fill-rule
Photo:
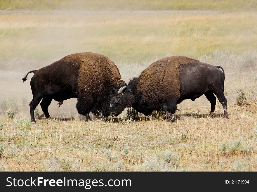
M 256 171 L 256 111 L 229 109 L 229 120 L 194 115 L 174 123 L 39 120 L 32 126 L 1 118 L 1 163 L 9 171 L 232 171 L 242 161 L 237 170 Z

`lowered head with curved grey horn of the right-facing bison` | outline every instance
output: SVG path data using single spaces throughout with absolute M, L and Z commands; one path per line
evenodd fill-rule
M 121 84 L 112 89 L 105 103 L 102 105 L 102 111 L 108 116 L 118 116 L 126 107 L 131 107 L 135 101 L 132 91 L 126 84 Z

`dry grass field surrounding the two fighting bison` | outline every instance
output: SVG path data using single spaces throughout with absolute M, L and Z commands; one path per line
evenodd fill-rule
M 19 2 L 0 1 L 1 9 L 12 8 L 0 11 L 0 171 L 257 171 L 255 1 L 242 7 L 237 1 L 231 10 L 230 1 L 191 9 L 173 1 L 169 11 L 156 11 L 166 9 L 155 1 L 148 10 L 142 1 L 105 11 L 95 4 L 53 10 L 32 1 L 24 10 Z M 202 96 L 179 104 L 173 123 L 158 116 L 133 121 L 126 110 L 107 122 L 85 122 L 70 99 L 60 108 L 52 102 L 54 120 L 32 125 L 32 75 L 21 78 L 76 52 L 108 56 L 126 82 L 166 56 L 220 65 L 229 119 L 223 120 L 219 102 L 216 117 L 208 118 L 211 105 Z

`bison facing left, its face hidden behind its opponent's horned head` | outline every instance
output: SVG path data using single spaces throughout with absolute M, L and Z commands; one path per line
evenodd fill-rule
M 131 79 L 126 88 L 135 96 L 131 106 L 144 115 L 151 115 L 154 110 L 164 110 L 171 115 L 181 101 L 195 101 L 203 94 L 211 103 L 212 115 L 216 105 L 215 94 L 224 108 L 224 117 L 228 118 L 227 99 L 223 94 L 224 79 L 224 70 L 220 66 L 173 56 L 152 63 L 139 77 Z

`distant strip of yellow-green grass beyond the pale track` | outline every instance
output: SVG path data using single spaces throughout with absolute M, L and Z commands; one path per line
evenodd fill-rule
M 0 9 L 256 11 L 255 0 L 0 0 Z

